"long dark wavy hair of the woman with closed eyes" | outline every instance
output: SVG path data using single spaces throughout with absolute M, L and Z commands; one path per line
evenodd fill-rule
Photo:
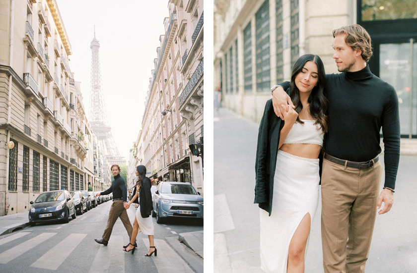
M 295 106 L 295 111 L 299 113 L 303 109 L 303 105 L 300 101 L 300 91 L 295 85 L 295 77 L 300 73 L 304 67 L 304 64 L 307 61 L 312 61 L 317 65 L 318 70 L 318 82 L 311 91 L 310 97 L 308 98 L 308 103 L 310 105 L 310 114 L 315 118 L 314 124 L 320 124 L 323 132 L 327 132 L 329 126 L 329 117 L 325 114 L 327 111 L 327 99 L 324 96 L 326 90 L 326 72 L 324 71 L 324 65 L 322 60 L 317 55 L 306 54 L 302 55 L 297 59 L 292 68 L 291 74 L 291 101 Z M 297 122 L 304 123 L 297 117 Z

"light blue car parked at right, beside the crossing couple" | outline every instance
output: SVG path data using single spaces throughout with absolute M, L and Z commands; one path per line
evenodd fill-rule
M 204 199 L 190 183 L 163 181 L 153 194 L 153 213 L 156 222 L 168 217 L 204 219 Z

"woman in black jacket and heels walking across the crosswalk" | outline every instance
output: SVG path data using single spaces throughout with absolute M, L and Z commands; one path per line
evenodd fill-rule
M 156 248 L 153 243 L 153 221 L 149 217 L 152 212 L 152 195 L 150 193 L 150 180 L 146 176 L 146 167 L 139 165 L 136 167 L 136 176 L 138 181 L 136 182 L 136 187 L 134 189 L 134 196 L 129 202 L 129 206 L 139 197 L 139 208 L 136 211 L 135 221 L 133 223 L 133 232 L 132 238 L 128 245 L 124 246 L 124 251 L 129 252 L 132 250 L 132 254 L 135 252 L 137 247 L 136 245 L 136 236 L 138 235 L 138 230 L 140 233 L 148 235 L 149 238 L 149 251 L 145 256 L 152 256 L 155 253 L 157 254 Z

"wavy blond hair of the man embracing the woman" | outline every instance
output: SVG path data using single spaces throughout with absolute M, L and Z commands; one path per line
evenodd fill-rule
M 339 34 L 346 34 L 346 44 L 352 50 L 361 50 L 362 59 L 366 62 L 369 61 L 369 58 L 372 56 L 371 36 L 362 26 L 354 24 L 335 29 L 333 38 L 336 38 Z

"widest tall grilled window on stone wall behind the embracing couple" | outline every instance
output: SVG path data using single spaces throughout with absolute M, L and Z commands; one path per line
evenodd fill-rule
M 271 85 L 269 0 L 255 14 L 256 22 L 256 91 L 269 92 Z

